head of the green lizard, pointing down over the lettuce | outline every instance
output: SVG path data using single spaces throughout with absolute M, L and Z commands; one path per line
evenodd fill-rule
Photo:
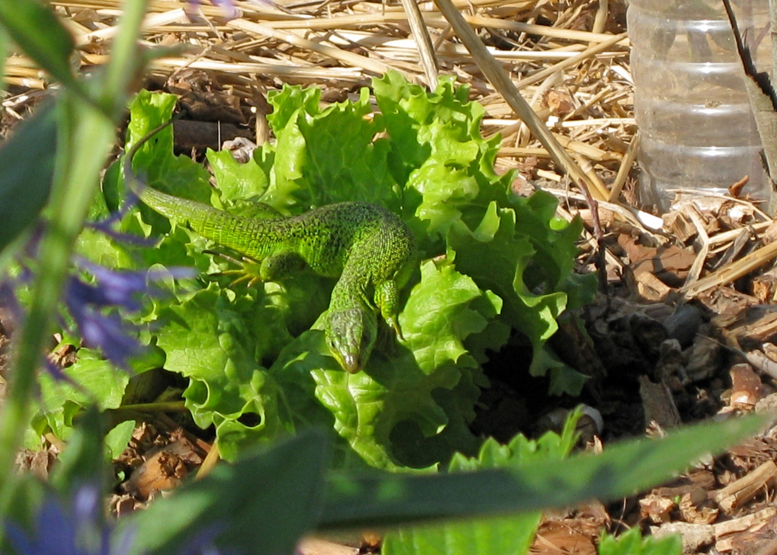
M 348 373 L 364 368 L 377 335 L 378 318 L 372 310 L 348 308 L 331 312 L 326 318 L 326 343 Z

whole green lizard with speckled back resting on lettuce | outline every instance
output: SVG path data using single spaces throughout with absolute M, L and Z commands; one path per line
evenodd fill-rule
M 132 172 L 132 158 L 171 122 L 152 130 L 124 158 L 124 179 L 143 203 L 256 261 L 263 281 L 305 268 L 320 276 L 339 276 L 324 331 L 329 350 L 347 372 L 358 372 L 370 357 L 378 335 L 377 310 L 402 338 L 399 289 L 412 272 L 416 241 L 395 213 L 371 203 L 346 202 L 291 217 L 262 205 L 261 216 L 249 218 L 144 186 Z

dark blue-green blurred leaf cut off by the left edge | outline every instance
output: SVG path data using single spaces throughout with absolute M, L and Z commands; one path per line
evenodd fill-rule
M 56 144 L 56 116 L 50 105 L 19 123 L 0 147 L 0 250 L 37 218 L 46 203 Z

